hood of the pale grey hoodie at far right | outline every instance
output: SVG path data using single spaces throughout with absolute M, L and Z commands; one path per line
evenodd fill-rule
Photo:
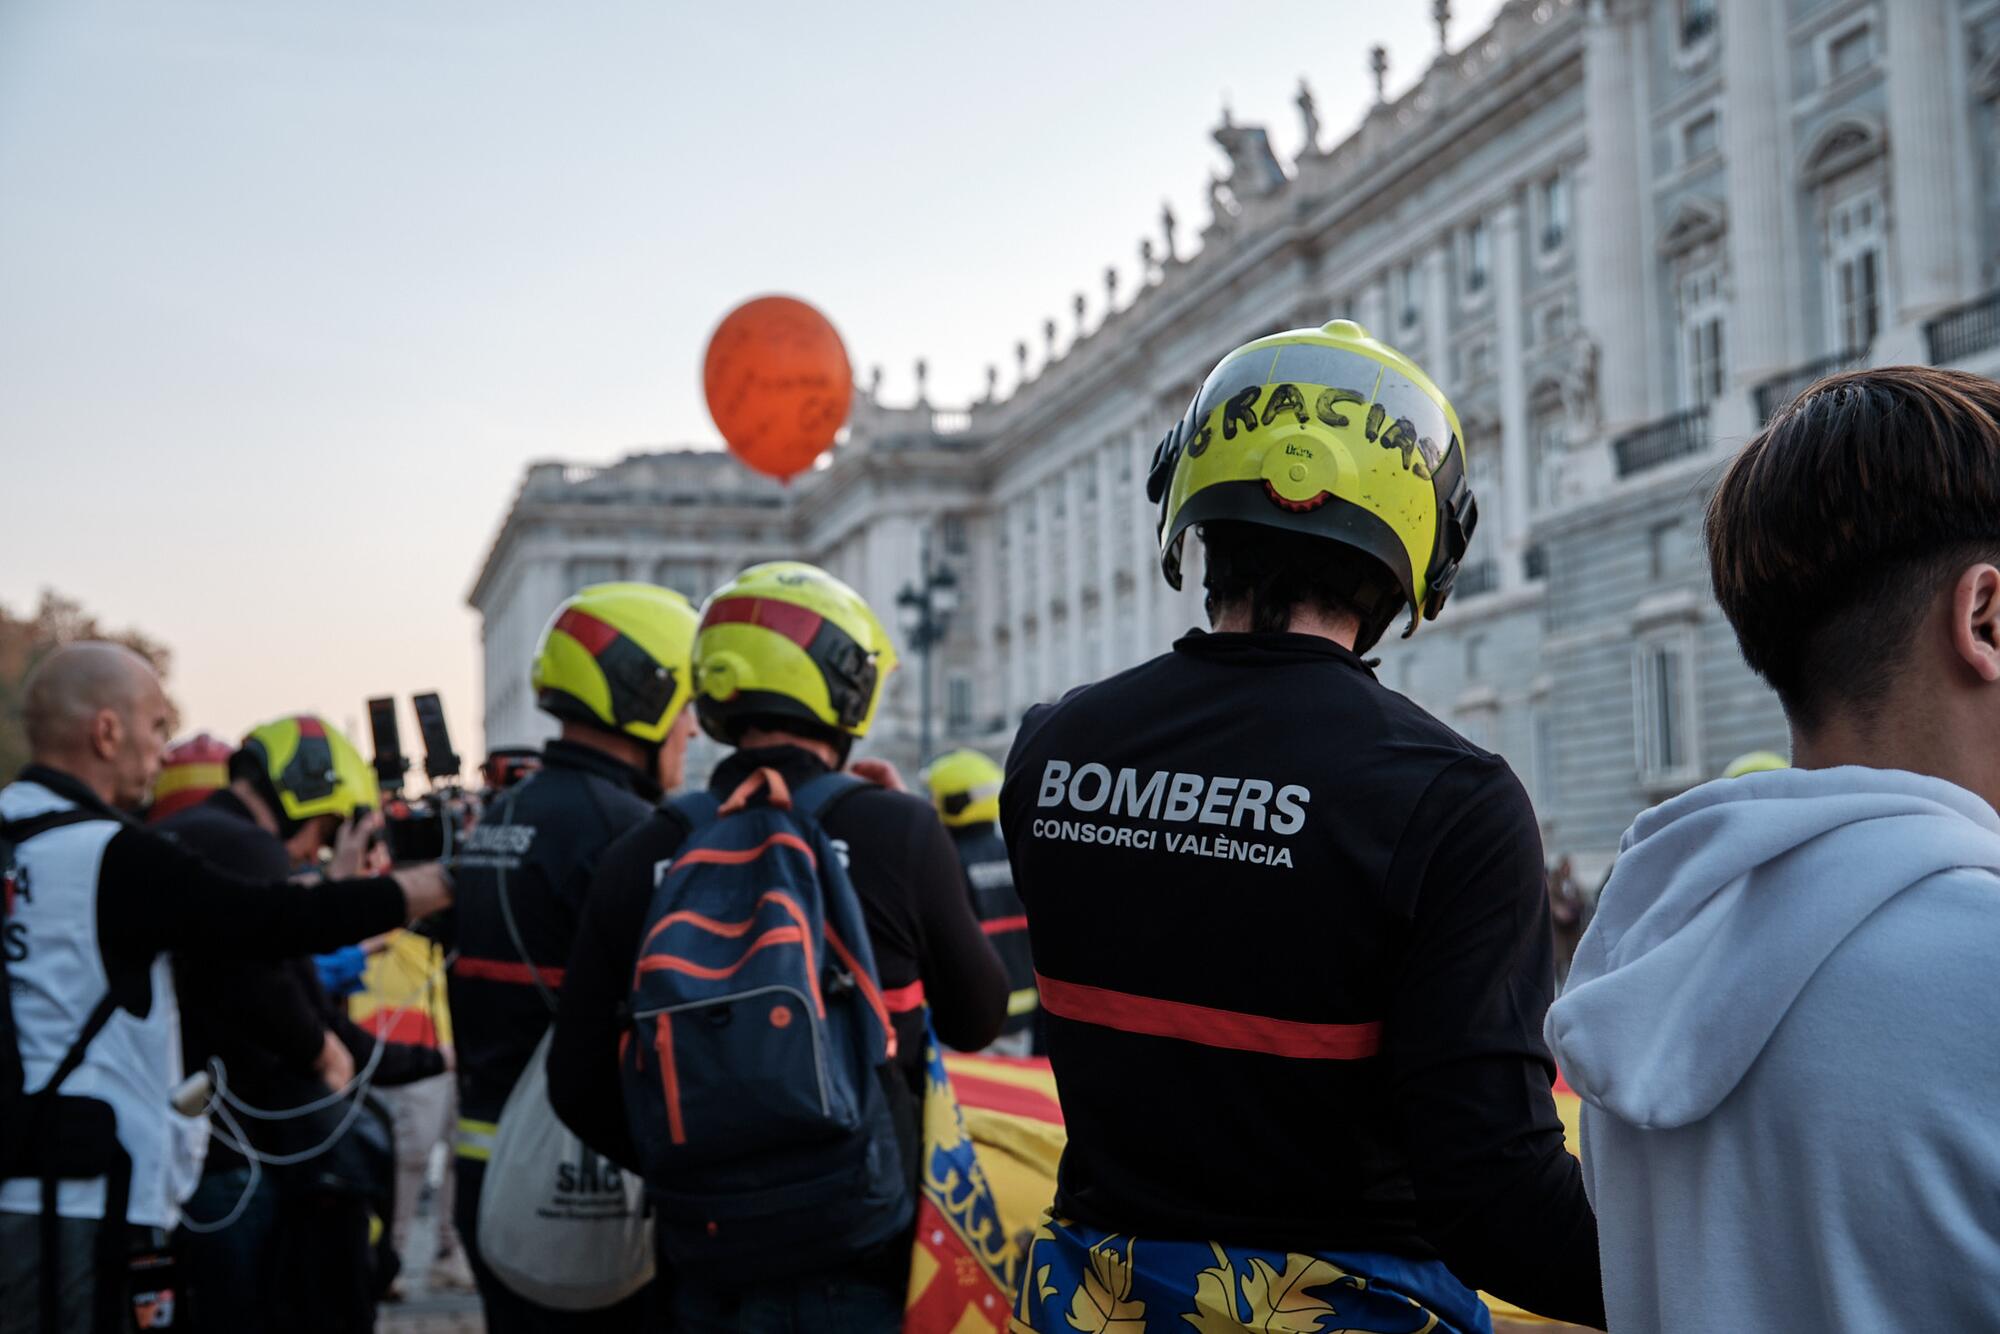
M 1612 1116 L 1696 1122 L 1876 908 L 1956 868 L 2000 872 L 2000 816 L 1942 778 L 1782 770 L 1694 788 L 1626 830 L 1548 1046 Z

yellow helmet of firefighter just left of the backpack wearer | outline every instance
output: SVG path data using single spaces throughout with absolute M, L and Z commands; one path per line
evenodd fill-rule
M 528 674 L 566 722 L 656 746 L 694 690 L 694 604 L 658 584 L 590 584 L 556 608 Z

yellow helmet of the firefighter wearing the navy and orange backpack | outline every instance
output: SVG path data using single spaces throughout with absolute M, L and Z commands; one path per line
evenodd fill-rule
M 796 718 L 868 736 L 896 648 L 868 602 L 818 566 L 750 566 L 702 606 L 694 712 L 736 744 L 742 718 Z

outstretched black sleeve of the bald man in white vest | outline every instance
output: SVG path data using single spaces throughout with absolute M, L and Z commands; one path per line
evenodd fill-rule
M 402 886 L 336 880 L 296 886 L 234 876 L 194 852 L 122 828 L 98 872 L 98 940 L 108 972 L 144 968 L 162 950 L 188 956 L 320 954 L 402 926 Z

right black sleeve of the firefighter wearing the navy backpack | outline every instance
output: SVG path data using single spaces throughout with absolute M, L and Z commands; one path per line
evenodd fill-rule
M 928 806 L 912 818 L 910 886 L 924 942 L 920 968 L 938 1040 L 976 1052 L 1006 1026 L 1006 968 L 972 914 L 958 848 Z

